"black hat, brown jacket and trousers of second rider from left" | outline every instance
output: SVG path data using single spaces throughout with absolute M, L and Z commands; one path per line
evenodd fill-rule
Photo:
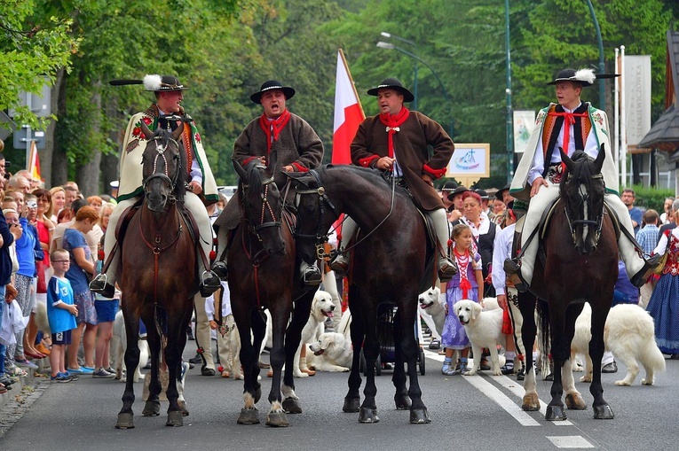
M 270 80 L 264 82 L 259 91 L 250 96 L 257 105 L 261 104 L 264 92 L 272 89 L 280 89 L 288 100 L 295 95 L 295 89 L 283 86 L 280 82 Z M 276 119 L 267 118 L 264 113 L 249 124 L 238 136 L 233 145 L 232 159 L 242 167 L 259 157 L 266 158 L 267 166 L 272 161 L 272 154 L 276 154 L 276 166 L 273 167 L 273 179 L 279 189 L 288 182 L 288 177 L 283 174 L 283 167 L 292 166 L 295 172 L 306 172 L 320 166 L 323 160 L 323 143 L 320 137 L 304 119 L 290 113 L 286 107 L 283 113 Z M 289 195 L 294 195 L 290 192 Z M 218 257 L 215 263 L 217 274 L 226 278 L 226 252 L 231 231 L 242 221 L 241 208 L 238 202 L 229 202 L 224 211 L 215 222 L 218 241 Z M 320 283 L 320 270 L 310 267 L 303 262 L 302 275 L 311 277 L 313 283 L 318 279 Z M 307 271 L 310 271 L 307 274 Z M 311 279 L 308 279 L 311 281 Z

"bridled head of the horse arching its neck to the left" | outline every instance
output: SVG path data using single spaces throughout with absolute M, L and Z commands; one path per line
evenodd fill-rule
M 311 264 L 319 258 L 320 253 L 325 252 L 328 229 L 339 214 L 326 194 L 319 172 L 312 169 L 309 172 L 288 172 L 286 175 L 293 181 L 296 190 L 296 252 Z

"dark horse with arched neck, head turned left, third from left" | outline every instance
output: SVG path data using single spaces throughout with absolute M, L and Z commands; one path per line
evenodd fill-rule
M 362 239 L 351 249 L 349 307 L 353 362 L 345 412 L 359 412 L 359 422 L 376 423 L 375 360 L 380 351 L 377 309 L 381 304 L 398 307 L 393 332 L 396 365 L 392 377 L 397 408 L 410 408 L 410 422 L 430 423 L 417 381 L 418 345 L 415 338 L 418 295 L 431 286 L 433 248 L 422 215 L 407 192 L 384 180 L 381 173 L 351 166 L 320 167 L 307 174 L 288 175 L 299 187 L 297 196 L 297 246 L 304 260 L 313 260 L 331 224 L 341 213 L 359 224 Z M 364 341 L 365 338 L 365 341 Z M 359 407 L 360 348 L 367 365 L 365 400 Z M 407 362 L 410 387 L 406 389 Z

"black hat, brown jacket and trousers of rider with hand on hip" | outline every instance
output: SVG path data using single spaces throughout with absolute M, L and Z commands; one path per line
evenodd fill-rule
M 379 86 L 369 89 L 367 93 L 377 96 L 380 89 L 394 89 L 403 95 L 404 102 L 414 99 L 413 94 L 403 87 L 395 78 L 385 79 Z M 428 146 L 433 147 L 430 155 Z M 430 175 L 438 179 L 446 174 L 448 161 L 453 157 L 454 144 L 446 130 L 438 122 L 432 121 L 422 113 L 410 111 L 403 106 L 399 113 L 381 113 L 363 121 L 351 142 L 351 162 L 360 167 L 375 167 L 382 157 L 395 158 L 393 176 L 407 186 L 415 203 L 427 214 L 436 229 L 438 237 L 439 276 L 447 281 L 457 272 L 454 262 L 447 258 L 450 232 L 446 216 L 446 207 L 438 192 L 429 183 L 422 180 L 422 175 Z M 351 218 L 343 222 L 342 243 L 340 253 L 331 264 L 336 272 L 345 273 L 348 260 L 343 249 L 349 244 L 351 236 L 357 229 Z

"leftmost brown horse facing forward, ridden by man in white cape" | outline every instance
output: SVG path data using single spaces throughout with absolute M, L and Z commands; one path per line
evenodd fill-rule
M 167 425 L 183 424 L 177 382 L 186 345 L 186 326 L 199 284 L 195 276 L 195 244 L 179 213 L 186 193 L 186 153 L 177 141 L 183 127 L 182 124 L 172 134 L 162 128 L 153 133 L 142 122 L 148 139 L 142 159 L 144 201 L 122 239 L 122 265 L 117 278 L 124 293 L 122 314 L 128 343 L 125 351 L 128 377 L 115 424 L 119 429 L 134 427 L 131 375 L 139 362 L 139 318 L 146 324 L 146 339 L 151 350 L 151 383 L 142 415 L 160 415 L 162 386 L 158 373 L 163 353 L 170 373 Z

